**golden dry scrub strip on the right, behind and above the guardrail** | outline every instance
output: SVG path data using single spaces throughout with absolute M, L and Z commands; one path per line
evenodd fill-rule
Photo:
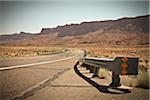
M 139 48 L 92 47 L 92 48 L 86 48 L 86 50 L 91 56 L 96 56 L 96 57 L 130 56 L 130 57 L 148 58 L 149 56 L 149 48 L 147 47 L 141 47 L 141 48 L 140 47 Z

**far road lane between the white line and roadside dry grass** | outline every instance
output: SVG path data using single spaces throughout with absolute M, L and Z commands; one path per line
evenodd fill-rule
M 22 65 L 43 61 L 51 61 L 64 57 L 69 57 L 74 55 L 75 52 L 69 50 L 64 53 L 47 55 L 47 56 L 33 56 L 33 57 L 12 57 L 12 58 L 0 58 L 0 67 L 8 67 L 14 65 Z

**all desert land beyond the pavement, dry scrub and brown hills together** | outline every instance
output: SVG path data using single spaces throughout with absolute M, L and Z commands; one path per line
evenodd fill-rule
M 85 50 L 90 57 L 139 58 L 139 75 L 125 76 L 124 81 L 130 87 L 149 89 L 149 15 L 0 35 L 1 59 L 61 54 L 72 48 Z M 105 76 L 107 71 L 101 73 Z

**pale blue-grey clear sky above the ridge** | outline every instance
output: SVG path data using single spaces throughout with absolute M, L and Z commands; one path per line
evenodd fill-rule
M 0 34 L 149 14 L 148 1 L 0 1 Z

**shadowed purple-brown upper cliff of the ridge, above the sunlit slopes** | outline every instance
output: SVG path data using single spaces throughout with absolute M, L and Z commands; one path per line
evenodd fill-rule
M 119 20 L 83 22 L 81 24 L 71 24 L 56 28 L 43 28 L 41 33 L 59 32 L 60 37 L 83 35 L 97 30 L 111 31 L 119 30 L 121 33 L 148 33 L 149 16 L 136 18 L 122 18 Z

